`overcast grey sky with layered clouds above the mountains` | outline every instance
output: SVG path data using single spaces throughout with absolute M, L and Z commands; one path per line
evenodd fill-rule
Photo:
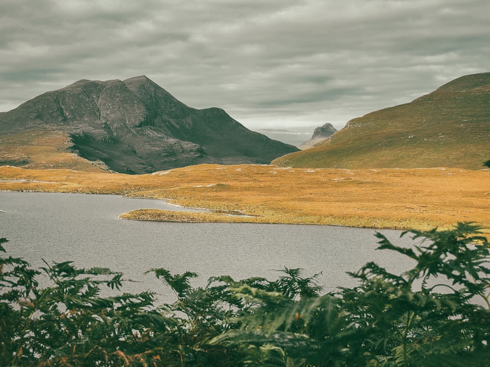
M 297 145 L 489 62 L 488 0 L 0 1 L 0 111 L 146 75 Z

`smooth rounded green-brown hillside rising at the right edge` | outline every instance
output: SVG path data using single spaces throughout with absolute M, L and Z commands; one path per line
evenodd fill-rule
M 490 159 L 490 73 L 350 120 L 312 149 L 272 164 L 311 168 L 482 169 Z

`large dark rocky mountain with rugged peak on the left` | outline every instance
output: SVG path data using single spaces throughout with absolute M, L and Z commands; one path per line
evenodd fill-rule
M 0 164 L 131 174 L 270 163 L 298 150 L 246 129 L 220 108 L 188 107 L 146 76 L 79 80 L 39 95 L 0 113 L 0 143 Z

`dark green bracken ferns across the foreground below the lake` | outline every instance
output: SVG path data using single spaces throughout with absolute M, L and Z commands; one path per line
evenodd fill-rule
M 123 275 L 71 262 L 31 269 L 0 258 L 2 366 L 489 366 L 489 243 L 479 228 L 411 231 L 412 248 L 382 234 L 379 249 L 415 266 L 368 263 L 359 286 L 321 294 L 317 275 L 210 278 L 151 269 L 176 296 L 101 297 Z M 406 234 L 406 233 L 405 233 Z M 5 252 L 0 239 L 0 250 Z M 45 275 L 51 284 L 38 285 Z

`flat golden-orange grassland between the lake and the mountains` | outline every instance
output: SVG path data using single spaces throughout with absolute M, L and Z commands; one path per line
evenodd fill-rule
M 490 233 L 490 170 L 202 164 L 124 175 L 2 166 L 0 179 L 25 180 L 0 181 L 0 190 L 120 194 L 250 215 L 151 209 L 125 213 L 123 218 L 396 229 L 448 228 L 473 221 Z

